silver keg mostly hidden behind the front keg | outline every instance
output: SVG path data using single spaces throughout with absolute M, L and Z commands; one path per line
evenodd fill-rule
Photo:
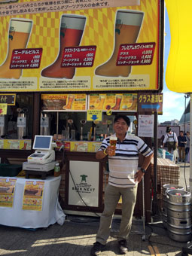
M 169 190 L 184 190 L 184 187 L 174 185 L 174 184 L 164 184 L 163 185 L 163 207 L 162 207 L 162 214 L 163 214 L 163 227 L 167 228 L 167 191 Z

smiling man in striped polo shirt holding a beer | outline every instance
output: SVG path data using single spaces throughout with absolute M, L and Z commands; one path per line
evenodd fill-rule
M 91 248 L 90 255 L 98 255 L 104 251 L 110 235 L 110 227 L 114 210 L 120 196 L 122 197 L 122 218 L 120 231 L 117 235 L 120 254 L 126 254 L 128 238 L 132 226 L 133 210 L 136 204 L 137 184 L 142 181 L 146 169 L 151 163 L 153 151 L 137 136 L 129 135 L 127 130 L 130 119 L 124 115 L 114 118 L 114 136 L 117 145 L 110 145 L 110 137 L 103 140 L 101 147 L 96 152 L 96 158 L 108 156 L 109 178 L 105 189 L 105 207 L 100 218 L 96 242 Z M 145 156 L 141 169 L 138 168 L 139 153 Z

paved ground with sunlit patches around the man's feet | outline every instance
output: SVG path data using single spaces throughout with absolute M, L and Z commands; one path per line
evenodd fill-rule
M 189 185 L 189 163 L 179 163 L 180 185 Z M 185 174 L 185 178 L 184 178 Z M 64 211 L 65 212 L 65 211 Z M 0 216 L 1 218 L 1 216 Z M 111 226 L 111 236 L 106 250 L 101 256 L 119 255 L 115 234 L 120 226 L 120 219 L 114 218 Z M 96 240 L 99 227 L 98 217 L 66 215 L 62 226 L 50 225 L 36 230 L 0 225 L 0 255 L 13 256 L 88 256 L 90 248 Z M 183 255 L 182 248 L 189 247 L 187 242 L 176 242 L 169 239 L 167 230 L 163 227 L 159 212 L 152 217 L 151 223 L 143 226 L 143 221 L 133 218 L 133 227 L 128 239 L 129 251 L 126 255 Z

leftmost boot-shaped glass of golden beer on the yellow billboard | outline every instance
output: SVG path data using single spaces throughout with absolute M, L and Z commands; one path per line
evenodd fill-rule
M 8 53 L 5 62 L 0 66 L 0 78 L 19 79 L 22 69 L 10 69 L 11 56 L 14 49 L 24 49 L 29 41 L 32 20 L 11 19 L 8 33 Z

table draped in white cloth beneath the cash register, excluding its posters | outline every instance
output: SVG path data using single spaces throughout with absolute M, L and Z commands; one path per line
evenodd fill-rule
M 11 227 L 38 228 L 50 224 L 63 224 L 65 214 L 58 201 L 60 177 L 48 176 L 45 180 L 19 177 L 16 178 L 14 206 L 0 207 L 0 224 Z M 23 210 L 23 191 L 26 181 L 44 181 L 42 211 Z

